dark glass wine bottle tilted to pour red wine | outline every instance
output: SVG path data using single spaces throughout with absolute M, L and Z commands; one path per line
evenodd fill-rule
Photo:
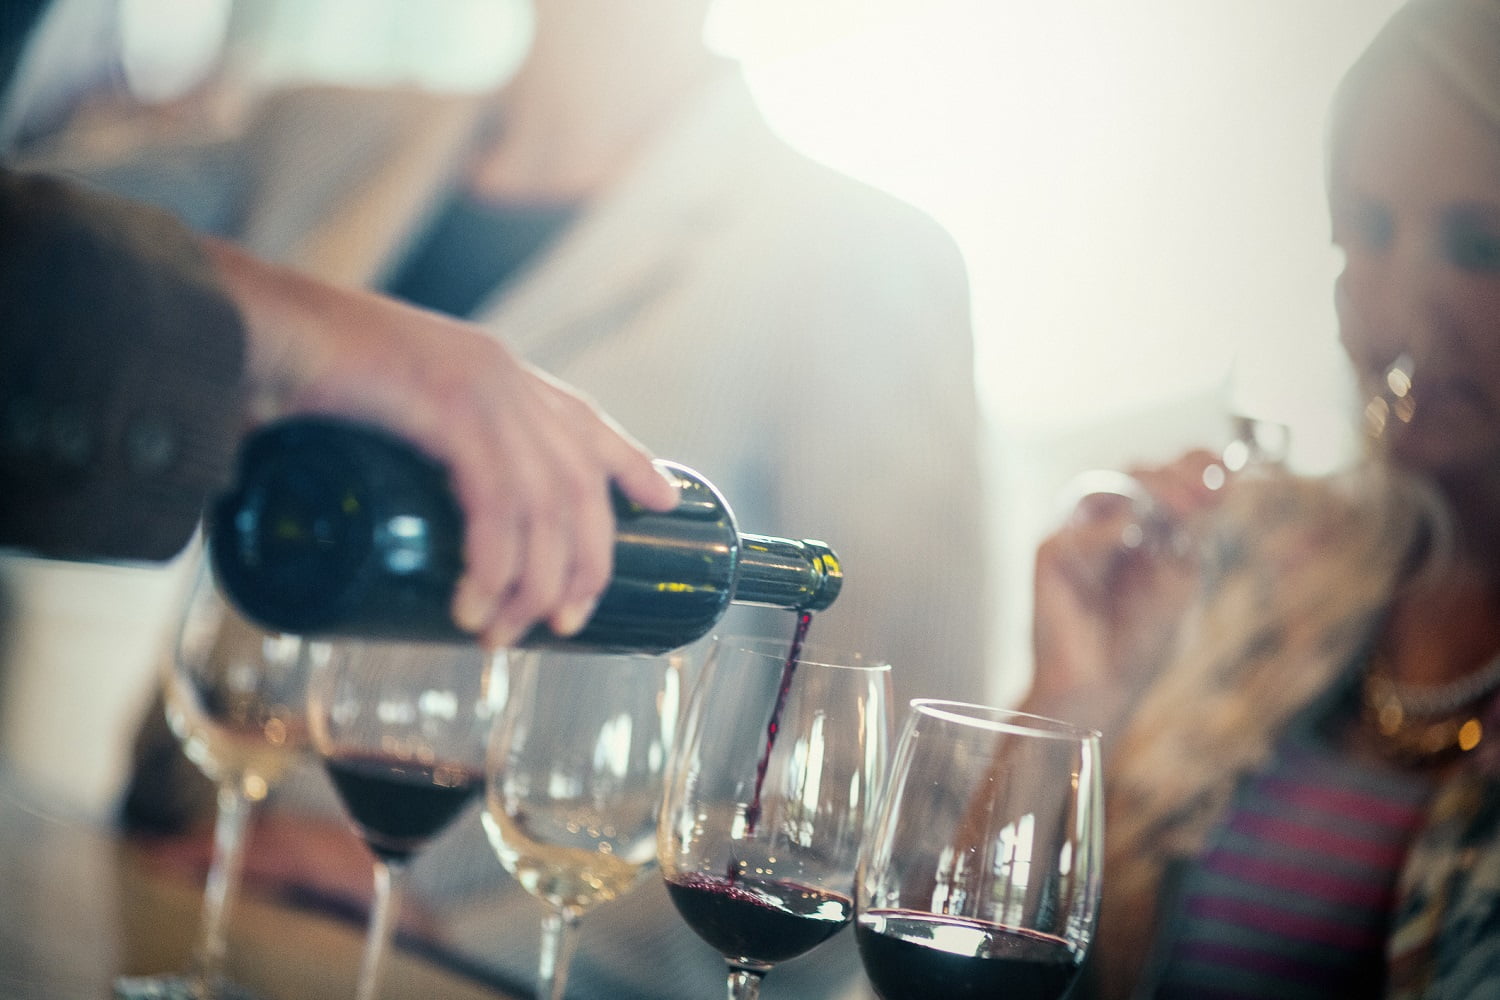
M 826 544 L 741 534 L 711 484 L 662 465 L 678 480 L 678 505 L 656 513 L 616 495 L 615 571 L 590 622 L 568 639 L 538 627 L 522 645 L 662 652 L 706 634 L 730 603 L 832 603 L 843 576 Z M 448 613 L 464 519 L 447 474 L 374 427 L 298 417 L 258 430 L 208 541 L 224 592 L 267 628 L 468 639 Z

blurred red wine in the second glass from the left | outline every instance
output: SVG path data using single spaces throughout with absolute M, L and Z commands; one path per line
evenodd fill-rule
M 471 768 L 376 754 L 328 757 L 324 768 L 364 843 L 387 861 L 411 858 L 484 786 L 484 777 Z

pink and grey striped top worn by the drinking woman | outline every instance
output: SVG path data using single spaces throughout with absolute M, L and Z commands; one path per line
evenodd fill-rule
M 1430 775 L 1302 736 L 1185 873 L 1161 1000 L 1378 997 L 1396 874 Z

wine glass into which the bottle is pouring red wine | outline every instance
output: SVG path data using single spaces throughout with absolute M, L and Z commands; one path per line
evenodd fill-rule
M 668 895 L 724 957 L 736 1000 L 854 916 L 860 841 L 885 774 L 890 666 L 788 646 L 714 643 L 657 828 Z

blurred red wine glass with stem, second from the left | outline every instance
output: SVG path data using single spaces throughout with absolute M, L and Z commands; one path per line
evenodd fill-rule
M 312 745 L 354 829 L 375 855 L 375 901 L 358 1000 L 374 1000 L 408 862 L 484 783 L 498 708 L 478 646 L 338 642 L 308 685 Z

